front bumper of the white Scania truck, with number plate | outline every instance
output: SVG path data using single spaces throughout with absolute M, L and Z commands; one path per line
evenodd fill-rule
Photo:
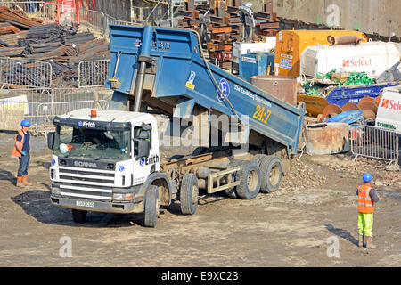
M 103 213 L 143 213 L 143 201 L 140 202 L 102 202 L 87 199 L 71 199 L 50 195 L 50 201 L 55 207 L 73 208 L 83 211 Z

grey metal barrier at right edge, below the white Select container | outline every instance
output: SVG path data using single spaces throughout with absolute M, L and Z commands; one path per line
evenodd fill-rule
M 387 160 L 398 166 L 399 134 L 375 126 L 350 126 L 351 152 L 358 156 Z M 355 159 L 356 159 L 355 158 Z

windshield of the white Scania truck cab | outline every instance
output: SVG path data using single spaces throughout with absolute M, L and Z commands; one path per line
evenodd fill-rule
M 54 154 L 70 158 L 118 159 L 131 157 L 130 131 L 57 126 Z

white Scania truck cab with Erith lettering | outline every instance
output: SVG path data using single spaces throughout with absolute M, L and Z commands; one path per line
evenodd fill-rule
M 155 205 L 149 207 L 169 205 L 174 187 L 159 173 L 156 118 L 138 112 L 81 109 L 54 118 L 54 125 L 55 132 L 48 135 L 48 147 L 53 150 L 51 202 L 71 208 L 74 222 L 85 222 L 88 210 L 143 213 L 149 189 L 156 191 L 149 194 L 156 196 L 152 198 Z M 165 187 L 160 191 L 150 187 L 155 182 Z M 152 222 L 145 225 L 154 226 L 157 217 L 149 215 Z

